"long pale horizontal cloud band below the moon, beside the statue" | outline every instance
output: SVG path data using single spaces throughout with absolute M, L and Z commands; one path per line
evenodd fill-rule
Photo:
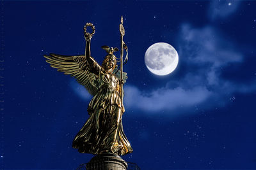
M 175 89 L 165 87 L 151 92 L 141 92 L 137 87 L 126 85 L 124 101 L 125 107 L 128 109 L 157 113 L 195 106 L 195 104 L 209 99 L 211 95 L 212 92 L 205 87 L 195 87 L 188 90 L 181 87 Z

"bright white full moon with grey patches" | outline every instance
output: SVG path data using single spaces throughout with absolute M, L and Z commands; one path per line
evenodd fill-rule
M 145 64 L 148 70 L 159 76 L 172 73 L 179 62 L 175 48 L 168 43 L 155 43 L 145 53 Z

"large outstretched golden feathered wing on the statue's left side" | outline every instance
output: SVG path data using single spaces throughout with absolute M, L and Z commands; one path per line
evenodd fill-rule
M 90 67 L 84 55 L 65 56 L 50 53 L 50 55 L 44 55 L 44 57 L 47 59 L 46 62 L 51 64 L 51 67 L 76 78 L 92 96 L 97 94 L 99 90 L 97 76 L 90 71 Z

